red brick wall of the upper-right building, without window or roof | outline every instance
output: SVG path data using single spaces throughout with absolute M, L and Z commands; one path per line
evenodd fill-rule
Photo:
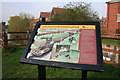
M 107 33 L 115 34 L 116 29 L 120 27 L 120 22 L 117 22 L 118 13 L 120 13 L 120 2 L 107 4 Z

